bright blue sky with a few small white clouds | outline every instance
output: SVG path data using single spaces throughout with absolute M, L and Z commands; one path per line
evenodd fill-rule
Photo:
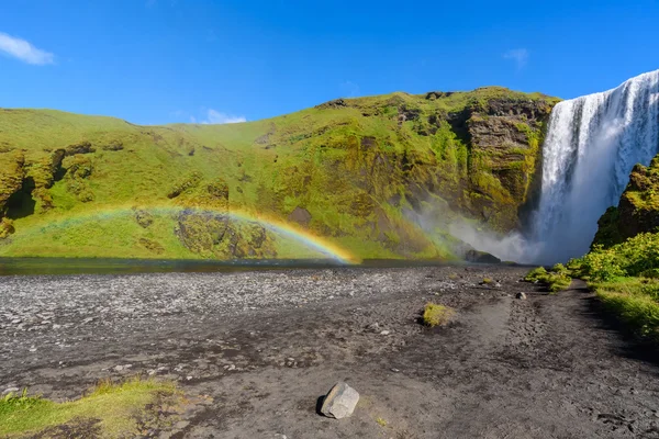
M 573 98 L 659 68 L 659 0 L 2 3 L 0 106 L 141 124 L 490 85 Z

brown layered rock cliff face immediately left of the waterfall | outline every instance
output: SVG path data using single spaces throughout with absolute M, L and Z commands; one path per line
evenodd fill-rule
M 535 201 L 551 108 L 547 100 L 499 98 L 468 110 L 472 194 L 465 206 L 494 229 L 518 228 L 521 211 Z

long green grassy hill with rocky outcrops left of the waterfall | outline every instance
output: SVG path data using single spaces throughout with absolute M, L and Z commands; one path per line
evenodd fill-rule
M 0 110 L 0 256 L 453 258 L 449 222 L 524 219 L 556 102 L 393 93 L 165 126 Z

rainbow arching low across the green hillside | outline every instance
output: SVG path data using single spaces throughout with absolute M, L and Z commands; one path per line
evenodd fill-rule
M 250 222 L 258 223 L 265 228 L 297 240 L 304 245 L 308 248 L 311 248 L 325 257 L 334 259 L 340 263 L 356 263 L 359 262 L 360 259 L 355 255 L 350 254 L 348 250 L 339 247 L 338 245 L 332 243 L 327 238 L 317 236 L 310 230 L 305 230 L 297 225 L 283 222 L 273 216 L 264 215 L 260 213 L 252 213 L 245 210 L 236 210 L 231 209 L 228 212 L 219 211 L 214 209 L 208 207 L 196 207 L 196 206 L 172 206 L 172 205 L 134 205 L 134 206 L 113 206 L 113 207 L 99 207 L 93 211 L 86 211 L 81 214 L 75 214 L 65 216 L 62 218 L 51 218 L 51 221 L 46 225 L 33 225 L 27 229 L 18 230 L 20 234 L 25 233 L 35 233 L 35 232 L 46 232 L 52 227 L 66 227 L 74 224 L 80 224 L 83 222 L 92 221 L 92 219 L 103 219 L 103 218 L 112 218 L 119 215 L 133 215 L 136 210 L 147 211 L 149 213 L 155 214 L 177 214 L 182 211 L 196 212 L 196 213 L 215 213 L 219 215 L 225 215 L 231 219 L 238 222 Z

